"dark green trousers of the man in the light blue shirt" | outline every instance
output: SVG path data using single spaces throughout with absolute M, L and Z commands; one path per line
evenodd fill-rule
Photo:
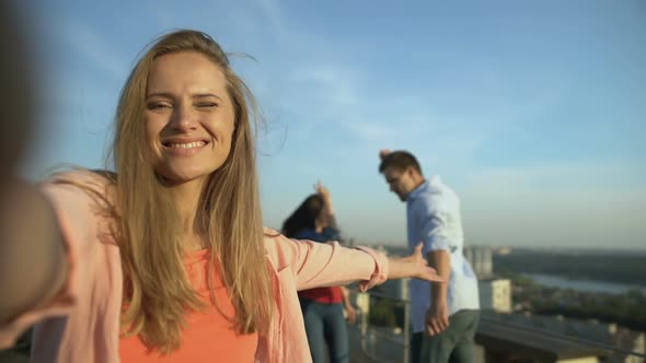
M 449 327 L 429 337 L 415 332 L 411 339 L 411 363 L 472 363 L 473 338 L 480 311 L 460 311 L 449 317 Z

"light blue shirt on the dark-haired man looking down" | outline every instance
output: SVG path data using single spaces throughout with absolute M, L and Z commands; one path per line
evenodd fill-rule
M 424 182 L 406 197 L 408 247 L 424 243 L 424 256 L 446 250 L 451 258 L 449 315 L 462 309 L 478 309 L 477 279 L 462 251 L 464 235 L 458 195 L 438 176 Z M 411 280 L 411 318 L 413 331 L 424 331 L 426 311 L 430 306 L 430 283 Z

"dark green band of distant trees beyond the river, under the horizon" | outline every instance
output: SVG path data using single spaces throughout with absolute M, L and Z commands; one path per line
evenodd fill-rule
M 494 271 L 558 274 L 573 279 L 646 284 L 646 256 L 519 251 L 494 256 Z

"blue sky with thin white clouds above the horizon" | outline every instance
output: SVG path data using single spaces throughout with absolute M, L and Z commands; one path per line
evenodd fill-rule
M 44 126 L 25 174 L 103 165 L 120 86 L 173 28 L 209 33 L 263 108 L 266 224 L 321 179 L 344 232 L 405 242 L 377 173 L 406 149 L 462 197 L 466 243 L 645 248 L 644 1 L 34 1 Z

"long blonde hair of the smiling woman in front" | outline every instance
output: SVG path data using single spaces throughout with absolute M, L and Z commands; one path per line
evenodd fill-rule
M 273 291 L 263 244 L 252 121 L 256 104 L 231 70 L 227 55 L 207 34 L 177 31 L 161 36 L 142 55 L 126 81 L 116 112 L 112 157 L 116 167 L 118 236 L 124 271 L 122 330 L 138 333 L 161 353 L 177 349 L 187 311 L 204 303 L 184 270 L 178 211 L 172 192 L 155 174 L 150 148 L 142 148 L 148 78 L 158 57 L 195 51 L 219 67 L 235 108 L 235 129 L 224 164 L 203 190 L 196 221 L 212 248 L 209 271 L 220 262 L 239 333 L 265 332 L 272 316 Z M 208 276 L 212 292 L 212 273 Z

